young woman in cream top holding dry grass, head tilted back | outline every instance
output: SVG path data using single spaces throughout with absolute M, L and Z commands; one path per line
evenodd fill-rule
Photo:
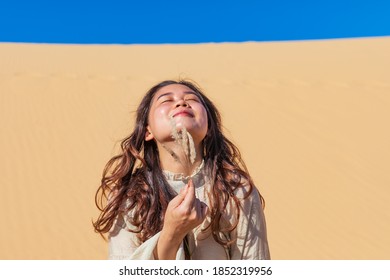
M 195 84 L 153 86 L 121 148 L 96 193 L 110 259 L 270 258 L 264 200 Z

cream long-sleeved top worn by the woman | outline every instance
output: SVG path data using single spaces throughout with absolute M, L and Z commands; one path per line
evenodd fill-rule
M 171 187 L 179 192 L 187 183 L 187 178 L 181 174 L 164 171 L 164 174 Z M 193 175 L 196 197 L 208 204 L 207 191 L 210 188 L 208 176 L 202 165 Z M 245 184 L 245 182 L 243 182 Z M 240 188 L 237 197 L 241 200 L 240 218 L 237 228 L 231 233 L 230 238 L 236 241 L 224 248 L 218 244 L 210 231 L 202 231 L 210 223 L 206 218 L 203 224 L 193 229 L 187 236 L 191 251 L 191 259 L 194 260 L 258 260 L 270 259 L 267 242 L 267 229 L 259 194 L 256 190 L 251 195 L 242 199 L 247 188 Z M 228 209 L 232 209 L 228 205 Z M 224 220 L 231 221 L 235 217 L 231 210 L 224 217 Z M 128 231 L 134 229 L 131 224 L 131 213 L 121 215 L 109 234 L 109 259 L 136 259 L 153 260 L 153 251 L 157 246 L 160 232 L 141 243 L 136 233 Z M 184 260 L 183 245 L 179 248 L 176 259 Z

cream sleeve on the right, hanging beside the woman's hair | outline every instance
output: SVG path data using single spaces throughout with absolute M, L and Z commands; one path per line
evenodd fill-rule
M 242 188 L 237 194 L 240 199 L 240 217 L 237 228 L 232 233 L 236 242 L 230 247 L 233 260 L 269 260 L 270 252 L 267 240 L 267 228 L 260 201 L 260 195 L 253 188 L 247 198 L 243 198 L 247 188 Z

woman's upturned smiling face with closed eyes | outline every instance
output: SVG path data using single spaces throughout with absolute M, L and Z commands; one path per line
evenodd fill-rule
M 160 143 L 172 141 L 173 123 L 177 129 L 185 127 L 195 144 L 199 144 L 207 134 L 206 109 L 196 93 L 185 85 L 168 85 L 155 93 L 145 140 L 155 139 Z

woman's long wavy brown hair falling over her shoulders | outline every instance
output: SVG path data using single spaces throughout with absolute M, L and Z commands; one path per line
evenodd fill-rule
M 113 227 L 115 219 L 123 212 L 132 210 L 132 224 L 141 242 L 161 231 L 168 203 L 176 195 L 169 186 L 160 166 L 159 153 L 154 141 L 145 141 L 146 127 L 151 103 L 155 93 L 168 85 L 180 84 L 193 90 L 207 112 L 208 131 L 202 141 L 203 160 L 210 171 L 212 198 L 208 205 L 213 238 L 222 246 L 234 240 L 226 239 L 238 223 L 240 199 L 235 191 L 243 187 L 242 179 L 249 184 L 246 196 L 257 189 L 243 162 L 237 147 L 222 133 L 221 116 L 215 105 L 195 85 L 187 80 L 166 80 L 153 86 L 142 99 L 136 115 L 135 128 L 130 136 L 121 142 L 121 153 L 106 164 L 95 203 L 101 211 L 93 226 L 95 231 L 104 234 Z M 264 207 L 264 199 L 260 195 Z M 227 211 L 229 200 L 236 208 L 235 222 L 228 228 L 222 227 L 222 219 Z M 127 205 L 127 207 L 123 207 Z M 188 252 L 186 251 L 188 257 Z

